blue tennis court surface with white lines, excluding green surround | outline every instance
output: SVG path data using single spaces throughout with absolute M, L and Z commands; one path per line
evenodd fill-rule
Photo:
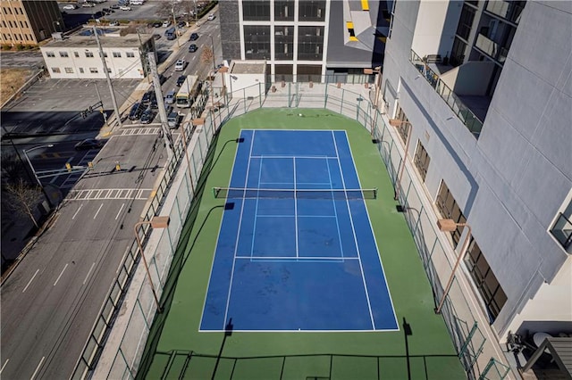
M 399 329 L 345 131 L 240 137 L 200 330 Z

